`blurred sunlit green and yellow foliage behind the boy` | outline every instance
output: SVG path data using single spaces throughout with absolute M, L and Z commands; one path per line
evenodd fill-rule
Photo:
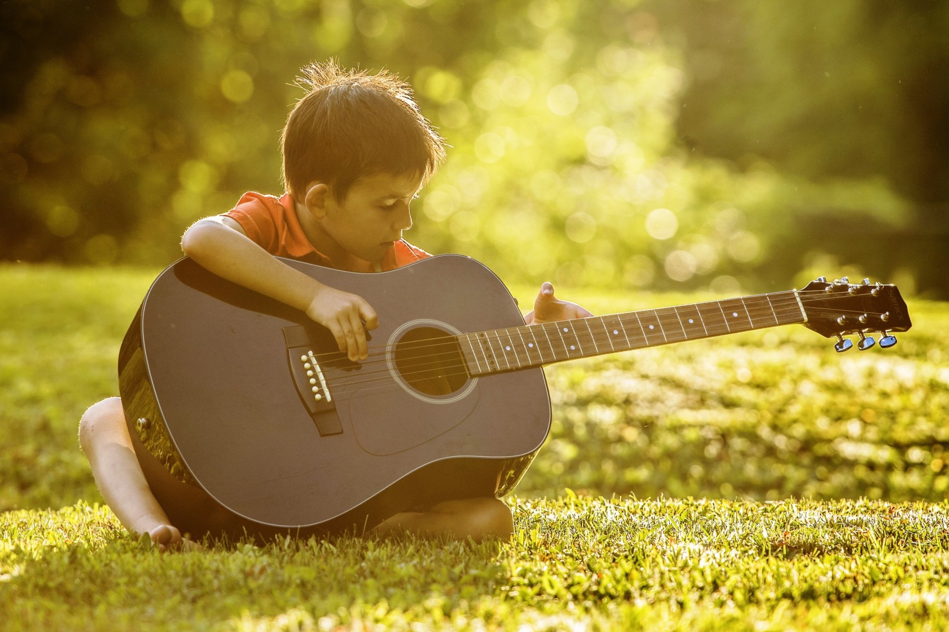
M 0 258 L 163 264 L 280 193 L 300 66 L 416 87 L 453 145 L 408 234 L 509 282 L 947 296 L 944 4 L 11 0 Z M 940 26 L 941 25 L 941 26 Z

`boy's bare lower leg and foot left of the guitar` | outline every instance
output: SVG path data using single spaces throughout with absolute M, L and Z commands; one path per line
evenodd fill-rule
M 162 551 L 180 546 L 181 533 L 170 524 L 141 472 L 118 397 L 85 411 L 79 443 L 102 497 L 122 525 L 132 533 L 148 533 Z

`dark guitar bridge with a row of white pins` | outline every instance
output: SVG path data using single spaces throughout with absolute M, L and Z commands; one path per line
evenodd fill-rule
M 320 434 L 336 435 L 343 432 L 343 424 L 335 414 L 336 404 L 333 394 L 326 384 L 317 354 L 302 326 L 284 327 L 284 339 L 287 341 L 287 355 L 293 384 L 307 412 L 316 423 Z M 328 413 L 328 414 L 327 414 Z

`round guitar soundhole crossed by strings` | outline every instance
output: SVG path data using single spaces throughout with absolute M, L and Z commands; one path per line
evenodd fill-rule
M 434 327 L 419 327 L 396 343 L 396 369 L 412 388 L 426 395 L 450 395 L 468 381 L 457 339 Z

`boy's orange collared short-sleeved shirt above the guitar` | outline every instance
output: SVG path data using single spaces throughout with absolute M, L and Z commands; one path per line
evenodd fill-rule
M 289 193 L 278 198 L 249 191 L 224 215 L 237 222 L 254 244 L 271 255 L 328 268 L 336 267 L 326 255 L 309 243 L 293 210 L 293 199 Z M 382 256 L 381 270 L 394 270 L 431 256 L 421 248 L 400 240 Z

